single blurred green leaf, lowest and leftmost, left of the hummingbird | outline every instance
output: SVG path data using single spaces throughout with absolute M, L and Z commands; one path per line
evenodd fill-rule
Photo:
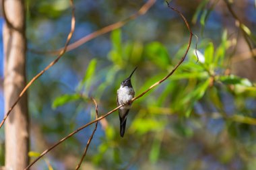
M 57 97 L 54 101 L 53 101 L 53 105 L 52 108 L 55 109 L 61 105 L 65 105 L 66 103 L 69 103 L 71 101 L 76 101 L 78 99 L 81 99 L 81 96 L 79 94 L 65 94 L 65 95 L 61 95 L 59 97 Z

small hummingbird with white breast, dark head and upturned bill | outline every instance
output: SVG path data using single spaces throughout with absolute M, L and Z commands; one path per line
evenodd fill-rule
M 127 104 L 127 105 L 123 105 L 121 108 L 119 108 L 120 136 L 121 137 L 123 137 L 123 135 L 125 134 L 127 115 L 131 108 L 131 99 L 133 99 L 133 97 L 135 95 L 133 86 L 131 85 L 131 76 L 133 75 L 133 73 L 136 69 L 137 69 L 137 67 L 133 70 L 131 75 L 121 83 L 120 88 L 117 90 L 117 105 L 119 106 L 122 104 Z

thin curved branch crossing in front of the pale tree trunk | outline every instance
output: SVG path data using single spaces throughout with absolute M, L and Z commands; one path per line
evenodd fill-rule
M 34 81 L 36 81 L 36 79 L 38 79 L 48 69 L 53 67 L 53 65 L 55 65 L 58 62 L 59 58 L 61 58 L 61 56 L 63 56 L 63 54 L 67 51 L 67 46 L 68 46 L 68 44 L 69 44 L 69 42 L 70 42 L 70 40 L 71 40 L 71 38 L 73 36 L 73 32 L 75 30 L 75 6 L 73 5 L 73 0 L 70 0 L 70 3 L 71 3 L 71 8 L 72 8 L 71 30 L 70 30 L 70 32 L 69 32 L 69 34 L 67 36 L 67 40 L 65 42 L 64 48 L 59 52 L 59 55 L 57 56 L 57 58 L 55 60 L 53 60 L 47 67 L 45 67 L 42 71 L 40 71 L 40 73 L 38 73 L 35 77 L 33 77 L 32 80 L 30 80 L 30 82 L 26 85 L 26 87 L 24 87 L 24 89 L 22 90 L 22 92 L 20 93 L 18 98 L 15 100 L 13 105 L 11 105 L 11 108 L 9 108 L 8 112 L 5 114 L 5 117 L 3 118 L 3 120 L 2 120 L 2 122 L 0 124 L 0 128 L 3 126 L 5 120 L 7 119 L 9 114 L 11 113 L 11 110 L 13 110 L 15 105 L 18 103 L 18 101 L 20 101 L 20 99 L 22 98 L 24 93 L 28 90 L 28 88 L 32 85 L 32 83 L 34 83 Z

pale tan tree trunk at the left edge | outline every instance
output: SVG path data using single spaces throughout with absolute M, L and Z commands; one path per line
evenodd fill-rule
M 5 111 L 26 85 L 26 18 L 24 0 L 3 0 L 4 96 Z M 28 99 L 25 94 L 5 122 L 5 169 L 28 165 Z

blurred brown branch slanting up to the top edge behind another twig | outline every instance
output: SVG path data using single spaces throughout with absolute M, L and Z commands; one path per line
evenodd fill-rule
M 116 22 L 115 24 L 111 24 L 109 26 L 106 26 L 100 30 L 97 30 L 96 32 L 92 32 L 91 34 L 89 34 L 88 36 L 84 36 L 83 38 L 77 40 L 76 42 L 73 42 L 72 44 L 69 44 L 67 46 L 67 51 L 73 50 L 79 46 L 82 46 L 82 44 L 98 37 L 101 36 L 102 34 L 106 34 L 108 32 L 111 32 L 113 30 L 116 30 L 118 28 L 123 27 L 125 24 L 127 24 L 127 22 L 136 19 L 137 17 L 139 17 L 140 15 L 144 15 L 149 9 L 150 7 L 152 7 L 152 5 L 154 5 L 154 3 L 156 3 L 156 0 L 148 0 L 140 9 L 139 11 L 137 11 L 136 13 L 134 13 L 133 15 L 127 17 L 126 19 L 124 19 L 121 22 Z M 37 50 L 30 50 L 31 52 L 37 53 L 37 54 L 58 54 L 59 51 L 63 50 L 63 48 L 59 49 L 59 50 L 53 50 L 53 51 L 49 51 L 49 52 L 42 52 L 42 51 L 37 51 Z

